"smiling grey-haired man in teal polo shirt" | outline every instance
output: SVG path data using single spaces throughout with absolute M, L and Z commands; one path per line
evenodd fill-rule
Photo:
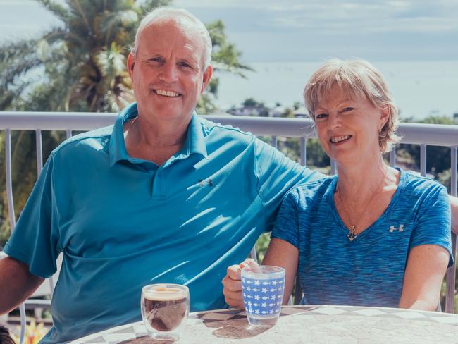
M 271 228 L 287 190 L 321 176 L 194 113 L 210 56 L 197 18 L 150 13 L 128 57 L 137 104 L 49 157 L 0 261 L 3 313 L 54 274 L 63 253 L 42 343 L 140 320 L 149 283 L 188 285 L 192 311 L 224 307 L 227 266 Z

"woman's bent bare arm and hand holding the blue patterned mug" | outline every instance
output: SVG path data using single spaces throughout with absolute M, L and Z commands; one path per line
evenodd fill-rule
M 298 250 L 294 245 L 285 240 L 272 238 L 268 245 L 266 257 L 262 262 L 263 265 L 281 266 L 286 270 L 283 305 L 287 304 L 295 283 L 298 256 Z M 223 278 L 223 295 L 225 302 L 230 307 L 244 307 L 240 271 L 245 265 L 256 265 L 256 263 L 253 259 L 246 259 L 241 264 L 229 266 L 228 272 Z

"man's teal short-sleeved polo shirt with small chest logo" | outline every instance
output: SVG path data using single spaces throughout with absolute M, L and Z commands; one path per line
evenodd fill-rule
M 188 285 L 191 310 L 225 306 L 221 279 L 271 230 L 283 196 L 320 178 L 249 133 L 194 114 L 184 147 L 161 166 L 125 149 L 123 123 L 54 149 L 5 251 L 49 277 L 63 253 L 43 343 L 141 319 L 150 283 Z

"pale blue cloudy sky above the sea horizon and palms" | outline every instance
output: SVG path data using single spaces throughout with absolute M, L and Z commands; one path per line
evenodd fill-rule
M 94 0 L 99 1 L 99 0 Z M 458 60 L 457 0 L 175 0 L 204 23 L 221 19 L 243 61 Z M 36 1 L 0 0 L 0 40 L 58 23 Z

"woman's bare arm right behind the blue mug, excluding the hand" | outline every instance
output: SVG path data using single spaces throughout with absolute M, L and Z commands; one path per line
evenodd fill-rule
M 277 238 L 272 238 L 268 245 L 266 257 L 263 265 L 280 266 L 286 271 L 285 276 L 285 293 L 283 295 L 283 305 L 287 305 L 295 285 L 297 275 L 297 260 L 299 259 L 299 250 L 289 242 Z

